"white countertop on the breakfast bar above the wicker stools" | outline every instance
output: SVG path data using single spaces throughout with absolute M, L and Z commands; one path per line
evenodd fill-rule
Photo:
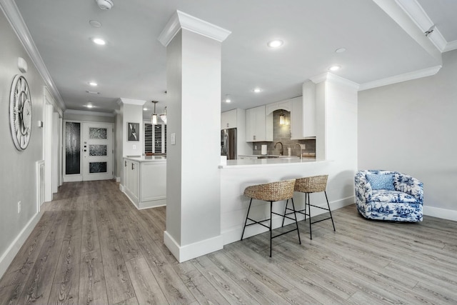
M 243 167 L 258 167 L 258 166 L 282 166 L 308 164 L 323 161 L 316 161 L 316 158 L 303 157 L 300 160 L 298 157 L 293 159 L 288 158 L 272 158 L 272 159 L 236 159 L 227 160 L 226 164 L 219 165 L 219 169 L 238 169 Z

